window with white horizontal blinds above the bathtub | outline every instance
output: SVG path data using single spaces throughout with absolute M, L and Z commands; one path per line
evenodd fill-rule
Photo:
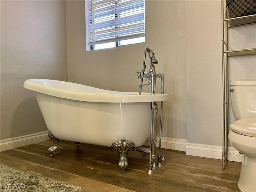
M 145 42 L 144 0 L 86 0 L 87 50 Z

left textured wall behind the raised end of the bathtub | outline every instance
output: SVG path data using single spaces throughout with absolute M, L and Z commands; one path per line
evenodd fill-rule
M 67 80 L 64 1 L 1 0 L 1 140 L 46 131 L 30 78 Z

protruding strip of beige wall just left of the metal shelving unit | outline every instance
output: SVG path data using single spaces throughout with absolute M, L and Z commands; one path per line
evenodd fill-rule
M 186 1 L 188 142 L 222 145 L 221 1 Z

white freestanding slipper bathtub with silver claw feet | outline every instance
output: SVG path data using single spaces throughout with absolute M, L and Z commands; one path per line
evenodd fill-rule
M 139 95 L 48 79 L 29 79 L 24 88 L 33 90 L 54 142 L 59 140 L 113 147 L 120 155 L 122 172 L 127 153 L 145 144 L 151 129 L 151 102 L 167 100 L 167 94 Z M 122 158 L 122 159 L 121 159 Z

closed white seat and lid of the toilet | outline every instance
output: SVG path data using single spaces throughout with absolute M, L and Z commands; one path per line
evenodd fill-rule
M 230 124 L 234 132 L 250 137 L 256 137 L 256 118 L 243 118 Z

